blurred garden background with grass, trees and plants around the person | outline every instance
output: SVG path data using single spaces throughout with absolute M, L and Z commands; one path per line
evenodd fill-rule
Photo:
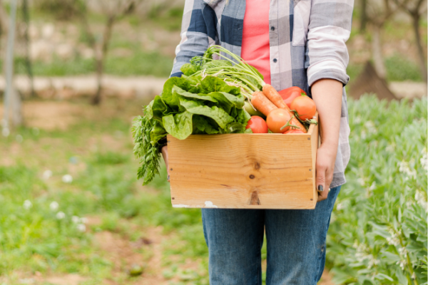
M 183 4 L 0 0 L 0 285 L 208 284 L 200 210 L 170 206 L 164 169 L 141 186 L 130 133 Z M 356 0 L 352 25 L 320 284 L 427 284 L 427 1 Z

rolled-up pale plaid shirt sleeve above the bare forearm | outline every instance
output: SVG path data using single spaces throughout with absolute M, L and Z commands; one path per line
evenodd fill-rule
M 312 0 L 306 45 L 309 86 L 323 78 L 348 83 L 345 43 L 350 38 L 353 6 L 353 0 Z

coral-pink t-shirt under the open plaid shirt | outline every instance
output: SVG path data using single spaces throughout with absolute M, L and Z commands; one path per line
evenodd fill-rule
M 241 57 L 262 73 L 270 84 L 270 0 L 246 0 Z

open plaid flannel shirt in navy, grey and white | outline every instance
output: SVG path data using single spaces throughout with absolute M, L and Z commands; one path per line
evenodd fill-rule
M 276 90 L 310 86 L 322 78 L 349 81 L 346 73 L 353 0 L 270 0 L 271 84 Z M 220 45 L 240 56 L 245 0 L 185 0 L 181 41 L 171 76 L 193 56 Z M 350 127 L 345 88 L 335 171 L 330 187 L 343 185 L 350 160 Z

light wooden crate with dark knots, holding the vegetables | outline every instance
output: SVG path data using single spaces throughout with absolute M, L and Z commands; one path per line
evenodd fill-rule
M 314 209 L 318 126 L 307 134 L 168 135 L 173 207 Z

